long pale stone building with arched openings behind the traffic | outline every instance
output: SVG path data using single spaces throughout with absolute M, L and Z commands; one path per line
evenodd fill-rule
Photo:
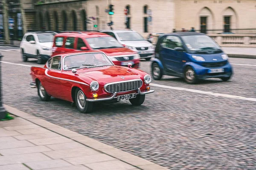
M 256 28 L 256 0 L 23 0 L 31 30 L 130 28 L 143 35 L 190 29 Z M 106 13 L 113 4 L 114 14 Z M 125 17 L 124 10 L 128 9 Z M 152 11 L 152 24 L 147 10 Z M 1 13 L 1 11 L 0 11 Z M 97 28 L 94 28 L 97 25 Z M 223 30 L 221 30 L 223 32 Z

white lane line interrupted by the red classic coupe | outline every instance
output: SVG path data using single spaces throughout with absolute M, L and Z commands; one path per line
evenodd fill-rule
M 21 66 L 25 66 L 25 67 L 33 66 L 33 65 L 17 64 L 17 63 L 6 62 L 6 61 L 0 61 L 0 62 L 6 63 L 6 64 L 21 65 Z M 212 95 L 212 96 L 221 96 L 221 97 L 242 99 L 242 100 L 249 100 L 249 101 L 256 102 L 256 98 L 252 98 L 252 97 L 234 96 L 234 95 L 230 95 L 230 94 L 220 94 L 220 93 L 214 93 L 211 91 L 200 91 L 200 90 L 189 89 L 189 88 L 180 88 L 180 87 L 174 87 L 174 86 L 168 86 L 168 85 L 159 85 L 159 84 L 155 84 L 155 83 L 150 83 L 150 85 L 159 87 L 159 88 L 168 88 L 168 89 L 179 90 L 179 91 L 189 91 L 192 93 L 207 94 L 207 95 Z

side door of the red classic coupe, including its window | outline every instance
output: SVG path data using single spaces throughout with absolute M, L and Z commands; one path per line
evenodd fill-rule
M 47 93 L 61 99 L 61 56 L 55 56 L 47 63 L 46 78 L 42 82 Z

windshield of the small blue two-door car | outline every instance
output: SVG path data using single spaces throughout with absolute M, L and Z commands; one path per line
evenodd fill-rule
M 223 52 L 214 40 L 207 35 L 187 35 L 182 39 L 193 54 L 215 54 Z

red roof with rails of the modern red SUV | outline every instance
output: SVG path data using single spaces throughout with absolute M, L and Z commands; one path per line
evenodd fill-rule
M 74 36 L 74 37 L 111 37 L 108 34 L 99 31 L 61 31 L 55 36 Z

